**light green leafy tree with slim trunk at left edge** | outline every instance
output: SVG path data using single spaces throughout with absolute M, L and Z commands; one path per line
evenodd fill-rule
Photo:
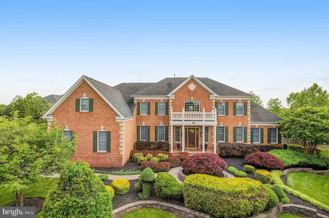
M 16 206 L 23 206 L 23 190 L 41 180 L 41 173 L 57 172 L 72 155 L 76 140 L 68 142 L 54 124 L 36 124 L 27 116 L 0 117 L 0 188 L 16 193 Z

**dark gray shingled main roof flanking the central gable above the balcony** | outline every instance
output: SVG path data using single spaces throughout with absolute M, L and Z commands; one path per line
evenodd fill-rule
M 139 92 L 136 92 L 135 94 L 133 94 L 133 96 L 168 95 L 187 79 L 188 77 L 165 78 Z M 215 92 L 215 94 L 219 96 L 252 96 L 246 92 L 234 89 L 225 84 L 211 80 L 210 78 L 197 79 L 204 83 L 208 88 L 210 88 L 212 91 Z

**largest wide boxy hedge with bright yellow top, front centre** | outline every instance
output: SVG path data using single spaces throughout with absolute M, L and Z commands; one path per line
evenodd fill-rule
M 258 214 L 268 202 L 268 192 L 259 181 L 205 174 L 187 176 L 183 195 L 187 207 L 224 218 Z

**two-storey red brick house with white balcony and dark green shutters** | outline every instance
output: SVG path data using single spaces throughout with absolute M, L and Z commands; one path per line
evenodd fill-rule
M 170 152 L 217 152 L 221 142 L 281 145 L 277 115 L 252 95 L 210 78 L 165 78 L 157 83 L 107 86 L 82 76 L 42 116 L 74 132 L 72 160 L 121 167 L 137 140 L 166 141 Z M 215 145 L 215 146 L 214 146 Z

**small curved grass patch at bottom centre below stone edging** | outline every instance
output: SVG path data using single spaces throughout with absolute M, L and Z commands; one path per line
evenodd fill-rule
M 133 210 L 129 213 L 126 213 L 120 218 L 136 218 L 136 217 L 143 217 L 143 218 L 179 218 L 174 213 L 168 212 L 168 211 L 163 211 L 155 208 L 142 208 L 139 210 Z

